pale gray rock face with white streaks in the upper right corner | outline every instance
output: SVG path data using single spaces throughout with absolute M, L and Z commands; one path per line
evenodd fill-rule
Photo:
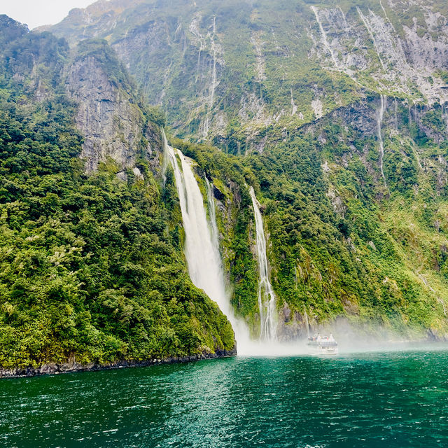
M 377 13 L 356 7 L 344 14 L 339 7 L 311 6 L 318 24 L 313 30 L 313 52 L 322 64 L 346 73 L 364 87 L 430 105 L 444 104 L 448 93 L 438 70 L 448 64 L 447 19 L 434 13 L 434 5 L 428 6 L 431 2 L 416 0 L 414 6 L 424 18 L 423 24 L 417 25 L 414 17 L 413 27 L 402 23 L 395 28 L 379 3 Z M 398 18 L 416 13 L 400 7 L 392 1 L 386 5 Z

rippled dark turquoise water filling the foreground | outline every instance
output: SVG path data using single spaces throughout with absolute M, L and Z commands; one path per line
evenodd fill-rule
M 448 447 L 448 352 L 0 380 L 0 447 Z

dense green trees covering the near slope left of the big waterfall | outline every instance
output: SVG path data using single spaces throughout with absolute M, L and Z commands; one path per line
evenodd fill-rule
M 30 54 L 57 75 L 66 44 L 50 34 L 20 39 L 1 64 L 0 366 L 232 349 L 230 324 L 191 283 L 179 228 L 167 225 L 176 204 L 165 205 L 148 169 L 125 183 L 109 160 L 85 176 L 76 105 L 57 84 L 36 101 L 33 67 L 24 68 Z M 160 113 L 147 114 L 160 124 Z

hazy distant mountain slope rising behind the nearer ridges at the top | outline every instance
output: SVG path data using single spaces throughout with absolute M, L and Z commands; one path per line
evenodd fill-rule
M 103 37 L 179 137 L 262 149 L 362 97 L 448 100 L 442 1 L 98 1 L 55 34 Z

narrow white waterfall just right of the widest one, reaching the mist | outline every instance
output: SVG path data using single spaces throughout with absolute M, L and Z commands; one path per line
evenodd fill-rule
M 253 213 L 255 215 L 255 232 L 258 255 L 258 307 L 260 309 L 260 339 L 274 341 L 276 339 L 276 297 L 269 281 L 269 265 L 266 255 L 266 238 L 262 216 L 253 188 L 250 188 Z

